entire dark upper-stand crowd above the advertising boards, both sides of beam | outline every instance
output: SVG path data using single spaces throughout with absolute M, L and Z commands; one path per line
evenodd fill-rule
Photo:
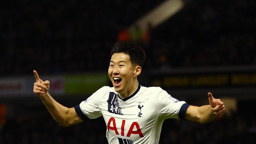
M 162 1 L 4 1 L 0 74 L 106 70 L 118 34 Z M 255 65 L 255 10 L 254 0 L 188 2 L 136 40 L 145 67 Z

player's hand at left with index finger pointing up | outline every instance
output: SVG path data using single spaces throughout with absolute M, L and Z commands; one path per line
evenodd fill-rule
M 34 83 L 33 92 L 38 96 L 45 96 L 50 88 L 50 82 L 48 80 L 42 81 L 35 70 L 34 75 L 36 78 L 36 82 Z

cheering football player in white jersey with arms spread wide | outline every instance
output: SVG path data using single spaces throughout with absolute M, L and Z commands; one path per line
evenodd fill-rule
M 34 93 L 62 126 L 103 116 L 106 137 L 111 144 L 157 144 L 165 119 L 207 123 L 225 110 L 223 102 L 213 98 L 211 93 L 208 93 L 209 105 L 197 107 L 173 98 L 159 87 L 139 85 L 137 76 L 145 58 L 144 50 L 137 44 L 117 42 L 111 51 L 108 69 L 113 87 L 100 88 L 73 108 L 56 102 L 48 93 L 50 82 L 42 81 L 35 70 Z

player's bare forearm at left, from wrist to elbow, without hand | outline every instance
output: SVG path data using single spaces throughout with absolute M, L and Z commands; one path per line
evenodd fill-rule
M 47 92 L 45 96 L 40 97 L 44 105 L 51 113 L 52 117 L 62 126 L 69 125 L 69 111 L 70 109 L 55 101 Z

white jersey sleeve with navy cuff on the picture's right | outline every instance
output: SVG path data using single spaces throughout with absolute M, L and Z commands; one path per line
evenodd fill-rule
M 158 95 L 156 97 L 158 111 L 160 117 L 167 118 L 185 118 L 185 114 L 188 108 L 188 104 L 185 101 L 179 101 L 176 98 L 169 95 L 165 90 L 159 88 Z

